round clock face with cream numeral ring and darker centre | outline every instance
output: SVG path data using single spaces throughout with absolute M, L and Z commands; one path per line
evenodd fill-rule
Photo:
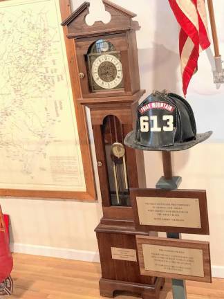
M 102 89 L 115 89 L 123 79 L 122 64 L 111 54 L 97 57 L 92 64 L 91 73 L 95 84 Z

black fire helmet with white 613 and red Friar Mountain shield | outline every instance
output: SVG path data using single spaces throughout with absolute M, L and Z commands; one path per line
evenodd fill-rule
M 178 151 L 205 141 L 212 132 L 196 134 L 192 107 L 175 93 L 155 91 L 137 109 L 136 130 L 124 144 L 135 149 Z

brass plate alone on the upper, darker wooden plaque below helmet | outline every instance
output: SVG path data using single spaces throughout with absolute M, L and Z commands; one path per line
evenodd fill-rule
M 201 228 L 199 199 L 136 197 L 140 225 Z

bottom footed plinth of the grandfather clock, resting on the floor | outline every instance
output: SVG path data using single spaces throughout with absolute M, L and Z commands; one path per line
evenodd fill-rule
M 109 280 L 101 278 L 100 295 L 103 297 L 113 298 L 119 292 L 135 293 L 141 296 L 142 299 L 159 299 L 160 290 L 165 283 L 164 278 L 156 278 L 154 284 L 140 284 L 134 282 L 124 282 L 119 280 Z

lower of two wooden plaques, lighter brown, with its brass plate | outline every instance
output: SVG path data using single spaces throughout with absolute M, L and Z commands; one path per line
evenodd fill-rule
M 136 235 L 141 275 L 212 282 L 209 242 Z

